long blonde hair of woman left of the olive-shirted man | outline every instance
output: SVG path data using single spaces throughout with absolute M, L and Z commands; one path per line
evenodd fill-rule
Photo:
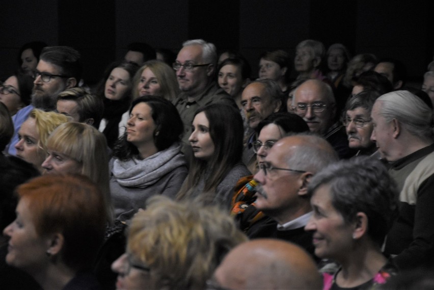
M 146 68 L 149 68 L 152 71 L 158 81 L 158 84 L 160 85 L 160 94 L 158 95 L 158 97 L 164 97 L 165 99 L 172 101 L 179 95 L 179 85 L 178 81 L 176 80 L 176 74 L 173 68 L 171 68 L 165 62 L 159 60 L 150 60 L 145 62 L 145 64 L 141 68 L 139 68 L 137 73 L 135 73 L 134 75 L 134 85 L 132 92 L 132 96 L 134 99 L 140 97 L 138 86 L 142 78 L 142 72 Z

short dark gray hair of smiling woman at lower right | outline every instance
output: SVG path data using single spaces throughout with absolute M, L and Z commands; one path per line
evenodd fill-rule
M 323 168 L 309 182 L 309 196 L 321 186 L 330 187 L 333 207 L 345 223 L 358 212 L 368 217 L 368 235 L 382 245 L 398 208 L 398 190 L 387 168 L 369 156 L 341 160 Z

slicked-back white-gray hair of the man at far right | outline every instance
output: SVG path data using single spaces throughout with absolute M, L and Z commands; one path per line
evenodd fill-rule
M 430 141 L 434 139 L 432 110 L 419 97 L 409 91 L 394 91 L 376 101 L 382 102 L 379 114 L 386 122 L 396 119 L 410 134 Z

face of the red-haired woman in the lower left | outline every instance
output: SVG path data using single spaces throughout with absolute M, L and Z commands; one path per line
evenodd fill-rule
M 3 230 L 3 234 L 9 238 L 6 262 L 30 272 L 48 261 L 46 253 L 51 243 L 36 232 L 30 201 L 25 197 L 18 202 L 16 214 L 16 219 Z

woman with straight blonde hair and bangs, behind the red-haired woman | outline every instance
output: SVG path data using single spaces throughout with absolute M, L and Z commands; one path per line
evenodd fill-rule
M 105 196 L 107 220 L 113 220 L 108 186 L 108 153 L 104 135 L 95 127 L 68 122 L 57 127 L 46 142 L 46 173 L 82 174 L 89 177 Z

